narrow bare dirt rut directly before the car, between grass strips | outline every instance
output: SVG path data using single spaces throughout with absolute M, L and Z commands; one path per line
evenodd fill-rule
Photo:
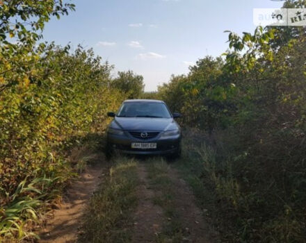
M 134 218 L 134 235 L 132 242 L 154 242 L 156 233 L 161 231 L 163 224 L 163 210 L 154 205 L 154 190 L 150 189 L 147 181 L 147 171 L 142 164 L 138 167 L 138 207 Z

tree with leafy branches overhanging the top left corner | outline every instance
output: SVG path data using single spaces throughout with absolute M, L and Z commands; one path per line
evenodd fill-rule
M 45 23 L 74 10 L 63 0 L 0 0 L 0 95 L 19 83 L 34 82 L 32 72 L 40 58 L 46 58 L 46 45 L 35 45 Z

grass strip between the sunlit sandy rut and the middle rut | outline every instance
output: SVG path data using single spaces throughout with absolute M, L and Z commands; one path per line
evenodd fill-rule
M 79 242 L 130 242 L 132 212 L 137 206 L 135 160 L 115 158 L 109 176 L 92 196 Z

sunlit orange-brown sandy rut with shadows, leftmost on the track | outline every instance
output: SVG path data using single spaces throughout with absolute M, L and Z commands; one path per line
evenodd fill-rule
M 95 191 L 102 176 L 102 162 L 88 165 L 86 171 L 67 190 L 63 203 L 54 211 L 53 219 L 40 233 L 40 243 L 72 243 L 77 241 L 83 209 L 92 192 Z

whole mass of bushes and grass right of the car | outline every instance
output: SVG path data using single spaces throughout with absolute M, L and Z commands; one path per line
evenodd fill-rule
M 223 57 L 159 87 L 196 131 L 183 160 L 188 181 L 218 208 L 224 240 L 305 241 L 305 44 L 305 28 L 230 32 Z

